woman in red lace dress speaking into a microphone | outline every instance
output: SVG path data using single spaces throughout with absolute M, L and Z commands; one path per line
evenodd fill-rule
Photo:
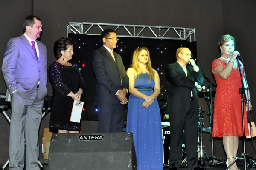
M 243 136 L 241 95 L 241 76 L 235 51 L 235 39 L 230 35 L 224 35 L 219 42 L 221 57 L 212 62 L 212 72 L 216 79 L 217 88 L 214 100 L 214 117 L 212 137 L 223 137 L 223 145 L 227 154 L 227 166 L 236 159 L 238 149 L 238 137 Z M 240 62 L 240 61 L 239 61 Z M 242 63 L 241 72 L 244 87 L 248 84 Z M 245 135 L 248 135 L 246 111 L 252 109 L 249 90 L 245 91 L 248 105 L 244 105 Z M 236 163 L 229 170 L 237 170 Z

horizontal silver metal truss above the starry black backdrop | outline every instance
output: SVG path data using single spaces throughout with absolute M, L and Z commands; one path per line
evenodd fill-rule
M 195 28 L 108 23 L 69 22 L 67 25 L 67 35 L 69 33 L 99 35 L 106 28 L 115 30 L 118 37 L 188 40 L 190 42 L 194 38 L 195 41 Z

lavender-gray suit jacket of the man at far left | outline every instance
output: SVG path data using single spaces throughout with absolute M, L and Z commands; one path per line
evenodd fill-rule
M 38 98 L 47 95 L 47 54 L 43 43 L 37 41 L 39 59 L 34 54 L 30 42 L 24 34 L 8 41 L 3 58 L 3 77 L 12 94 L 17 90 L 23 99 L 29 99 L 35 92 L 40 80 Z

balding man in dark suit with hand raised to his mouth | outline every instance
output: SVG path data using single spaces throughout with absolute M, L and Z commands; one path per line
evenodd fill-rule
M 198 96 L 204 84 L 201 74 L 189 48 L 179 48 L 177 61 L 165 69 L 168 87 L 167 113 L 170 120 L 170 170 L 177 170 L 182 162 L 182 137 L 185 130 L 188 169 L 199 169 L 197 156 L 198 138 Z M 187 66 L 191 64 L 191 66 Z

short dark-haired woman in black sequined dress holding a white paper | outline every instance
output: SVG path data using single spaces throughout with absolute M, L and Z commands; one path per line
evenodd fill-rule
M 81 124 L 71 122 L 73 102 L 79 105 L 84 90 L 84 80 L 78 68 L 68 62 L 72 59 L 73 44 L 62 37 L 54 43 L 54 54 L 58 59 L 49 68 L 49 80 L 53 88 L 49 128 L 58 133 L 79 133 Z

